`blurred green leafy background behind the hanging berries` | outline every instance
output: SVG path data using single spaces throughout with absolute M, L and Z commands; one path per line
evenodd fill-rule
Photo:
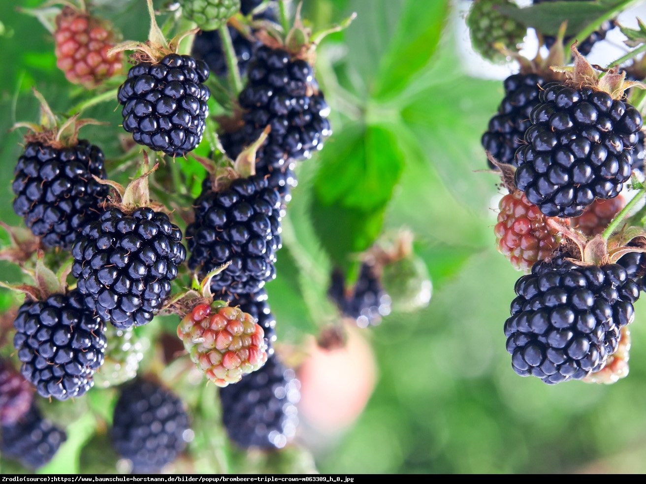
M 10 224 L 18 222 L 10 180 L 24 130 L 8 129 L 35 119 L 30 88 L 59 111 L 89 97 L 57 70 L 45 28 L 16 11 L 40 3 L 0 2 L 0 219 Z M 97 3 L 124 38 L 147 34 L 143 0 Z M 318 28 L 350 12 L 358 17 L 318 52 L 317 77 L 333 110 L 334 134 L 298 169 L 278 279 L 267 285 L 279 339 L 296 346 L 337 317 L 325 300 L 329 269 L 348 265 L 384 230 L 415 232 L 434 292 L 428 309 L 395 313 L 362 333 L 373 346 L 378 376 L 356 423 L 333 436 L 306 423 L 302 441 L 313 448 L 320 472 L 646 472 L 645 300 L 636 306 L 626 379 L 612 386 L 547 386 L 511 369 L 503 323 L 519 273 L 494 247 L 496 177 L 477 172 L 486 167 L 479 139 L 503 87 L 463 73 L 465 38 L 455 9 L 447 0 L 304 1 L 305 16 Z M 120 154 L 115 106 L 84 113 L 110 123 L 83 134 L 108 158 Z M 0 273 L 17 277 L 5 264 Z M 2 297 L 5 306 L 15 300 Z M 172 332 L 172 324 L 160 327 Z M 87 403 L 95 410 L 104 402 L 96 395 Z M 88 439 L 95 447 L 102 442 L 105 430 L 96 421 L 68 428 L 77 434 L 44 471 L 101 470 L 88 457 L 91 446 L 83 450 Z M 224 445 L 220 438 L 211 444 Z M 206 460 L 216 452 L 202 450 Z M 244 458 L 233 450 L 224 458 L 232 464 L 220 470 L 258 470 L 248 461 L 236 464 Z

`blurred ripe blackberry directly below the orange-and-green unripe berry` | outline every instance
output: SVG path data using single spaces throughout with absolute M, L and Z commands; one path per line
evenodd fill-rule
M 300 382 L 276 355 L 240 383 L 220 388 L 222 421 L 242 448 L 285 447 L 296 433 Z

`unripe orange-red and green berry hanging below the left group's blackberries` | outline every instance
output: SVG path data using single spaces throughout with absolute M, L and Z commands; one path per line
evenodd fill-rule
M 218 386 L 240 381 L 267 361 L 264 331 L 240 308 L 202 302 L 177 328 L 193 363 Z

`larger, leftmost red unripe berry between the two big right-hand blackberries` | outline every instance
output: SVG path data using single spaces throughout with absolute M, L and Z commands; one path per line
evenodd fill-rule
M 530 270 L 561 243 L 558 231 L 547 225 L 548 217 L 521 191 L 503 196 L 499 209 L 494 228 L 496 246 L 517 270 Z

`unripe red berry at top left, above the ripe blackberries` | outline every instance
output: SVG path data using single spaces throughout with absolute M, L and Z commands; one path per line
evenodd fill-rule
M 121 71 L 123 54 L 108 55 L 115 43 L 112 27 L 87 12 L 64 6 L 54 41 L 56 65 L 71 83 L 91 89 Z

